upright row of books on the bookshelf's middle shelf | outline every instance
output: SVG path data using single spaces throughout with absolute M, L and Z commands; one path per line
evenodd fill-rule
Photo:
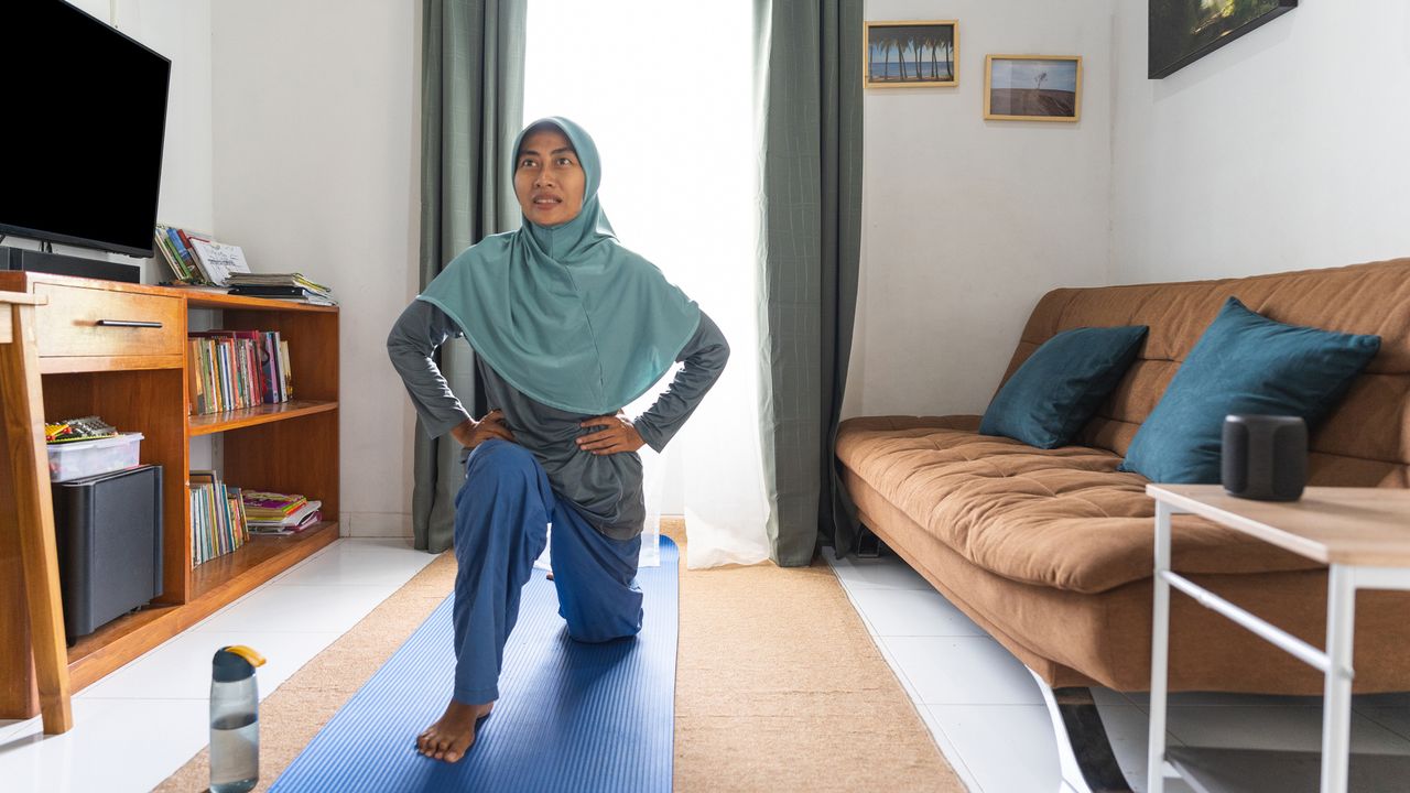
M 293 398 L 289 343 L 278 330 L 189 333 L 190 413 L 219 413 Z

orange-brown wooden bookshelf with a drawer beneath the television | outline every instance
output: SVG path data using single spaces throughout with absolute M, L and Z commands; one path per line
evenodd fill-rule
M 141 432 L 141 461 L 161 464 L 164 471 L 164 593 L 69 648 L 75 691 L 338 538 L 337 308 L 38 272 L 0 272 L 0 291 L 49 301 L 37 310 L 44 415 L 96 413 L 124 432 Z M 190 309 L 220 310 L 217 325 L 224 329 L 278 330 L 289 341 L 298 399 L 189 416 Z M 97 319 L 161 326 L 111 327 Z M 0 442 L 11 447 L 3 432 Z M 224 481 L 320 500 L 324 521 L 292 536 L 252 536 L 235 552 L 192 569 L 190 439 L 213 433 L 223 433 Z M 8 508 L 0 508 L 0 718 L 38 713 L 14 521 Z

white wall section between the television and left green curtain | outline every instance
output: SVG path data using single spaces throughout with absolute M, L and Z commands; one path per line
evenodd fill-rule
M 419 6 L 213 0 L 216 233 L 343 306 L 344 535 L 410 528 L 409 408 L 385 341 L 415 293 Z

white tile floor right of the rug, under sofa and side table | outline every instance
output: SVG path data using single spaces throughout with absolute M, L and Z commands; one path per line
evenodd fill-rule
M 825 552 L 877 648 L 971 792 L 1062 793 L 1052 721 L 1028 670 L 895 555 Z M 1093 691 L 1117 762 L 1145 790 L 1145 694 Z M 1352 749 L 1410 755 L 1410 694 L 1355 697 Z M 1170 745 L 1321 746 L 1320 697 L 1175 694 Z M 1187 793 L 1180 780 L 1166 790 Z

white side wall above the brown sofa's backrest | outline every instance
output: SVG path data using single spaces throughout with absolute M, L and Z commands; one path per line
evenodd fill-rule
M 1303 0 L 1162 80 L 1117 20 L 1117 282 L 1410 255 L 1410 3 Z

